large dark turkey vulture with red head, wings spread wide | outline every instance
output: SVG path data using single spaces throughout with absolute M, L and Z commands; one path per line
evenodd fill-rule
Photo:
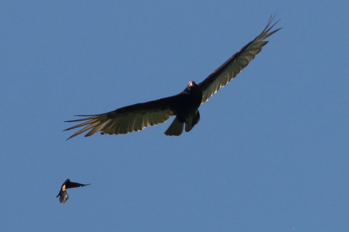
M 83 127 L 69 138 L 79 135 L 89 129 L 91 130 L 85 137 L 93 135 L 98 131 L 101 131 L 102 135 L 127 134 L 132 131 L 142 130 L 147 126 L 163 123 L 167 121 L 170 116 L 175 115 L 176 118 L 164 134 L 180 135 L 183 132 L 184 124 L 185 131 L 190 131 L 200 120 L 198 111 L 200 104 L 206 102 L 219 88 L 225 86 L 225 84 L 241 72 L 255 55 L 262 50 L 262 47 L 268 43 L 268 41 L 264 40 L 281 29 L 279 28 L 269 32 L 274 25 L 279 22 L 277 21 L 271 25 L 274 18 L 275 15 L 274 17 L 270 16 L 267 26 L 255 39 L 238 50 L 237 53 L 230 57 L 201 83 L 196 84 L 194 81 L 189 81 L 188 86 L 183 91 L 171 97 L 128 105 L 103 114 L 76 115 L 87 118 L 66 122 L 86 122 L 65 129 L 71 130 Z

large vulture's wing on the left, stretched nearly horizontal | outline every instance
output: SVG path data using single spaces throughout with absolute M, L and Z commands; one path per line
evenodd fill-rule
M 180 98 L 180 94 L 160 98 L 154 101 L 138 103 L 121 107 L 117 110 L 96 114 L 96 115 L 76 115 L 88 117 L 83 119 L 70 120 L 66 122 L 87 121 L 79 125 L 69 127 L 65 130 L 70 130 L 78 127 L 83 127 L 69 138 L 83 133 L 91 129 L 86 135 L 90 136 L 98 131 L 101 134 L 127 134 L 132 131 L 139 131 L 147 126 L 154 126 L 167 121 L 170 116 L 176 114 L 176 101 Z M 68 139 L 69 139 L 68 138 Z

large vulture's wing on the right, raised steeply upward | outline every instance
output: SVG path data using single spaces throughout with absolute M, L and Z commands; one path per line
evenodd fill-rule
M 254 40 L 247 43 L 242 49 L 238 50 L 237 53 L 235 53 L 224 64 L 211 73 L 205 80 L 199 83 L 199 86 L 203 90 L 201 104 L 206 102 L 218 91 L 220 87 L 224 87 L 225 84 L 236 77 L 236 75 L 248 65 L 255 55 L 262 50 L 262 47 L 267 44 L 268 41 L 263 41 L 264 39 L 281 29 L 279 28 L 269 32 L 270 29 L 272 29 L 273 26 L 279 22 L 276 21 L 276 23 L 270 26 L 274 17 L 270 16 L 267 26 Z

